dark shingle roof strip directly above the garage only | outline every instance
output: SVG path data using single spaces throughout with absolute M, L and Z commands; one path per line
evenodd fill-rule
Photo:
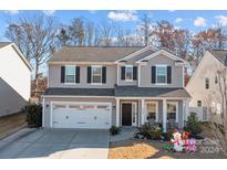
M 114 88 L 48 88 L 43 95 L 114 96 Z

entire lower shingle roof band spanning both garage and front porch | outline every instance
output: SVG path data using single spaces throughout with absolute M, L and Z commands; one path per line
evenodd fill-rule
M 44 95 L 116 97 L 190 97 L 184 88 L 116 86 L 115 88 L 48 88 Z

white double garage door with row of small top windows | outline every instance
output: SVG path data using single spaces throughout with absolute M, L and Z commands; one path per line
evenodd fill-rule
M 52 127 L 107 129 L 111 127 L 111 104 L 52 104 Z

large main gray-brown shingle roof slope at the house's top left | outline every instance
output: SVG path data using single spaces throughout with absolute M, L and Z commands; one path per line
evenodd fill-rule
M 143 47 L 63 46 L 49 62 L 115 62 Z

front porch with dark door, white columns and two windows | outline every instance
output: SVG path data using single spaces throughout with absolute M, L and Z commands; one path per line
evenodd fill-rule
M 145 123 L 168 128 L 184 128 L 188 115 L 187 98 L 116 98 L 116 126 L 140 127 Z

